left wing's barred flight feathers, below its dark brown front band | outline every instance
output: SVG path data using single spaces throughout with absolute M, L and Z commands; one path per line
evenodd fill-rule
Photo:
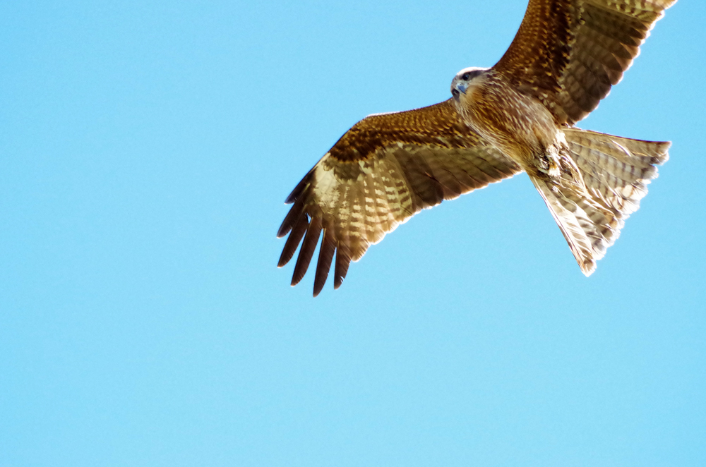
M 370 245 L 415 213 L 518 171 L 514 162 L 487 145 L 445 148 L 395 142 L 352 162 L 327 154 L 289 197 L 294 206 L 278 235 L 291 233 L 279 265 L 291 259 L 304 237 L 292 279 L 297 284 L 323 231 L 314 292 L 323 287 L 334 250 L 337 288 L 349 262 L 359 260 Z

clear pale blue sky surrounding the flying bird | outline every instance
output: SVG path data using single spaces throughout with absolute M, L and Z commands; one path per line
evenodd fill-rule
M 4 1 L 0 466 L 706 465 L 706 16 L 582 128 L 672 140 L 586 278 L 525 175 L 311 298 L 285 197 L 447 99 L 525 0 Z

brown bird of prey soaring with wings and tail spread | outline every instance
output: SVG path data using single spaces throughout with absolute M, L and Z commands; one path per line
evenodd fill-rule
M 409 217 L 521 171 L 590 275 L 638 209 L 670 143 L 575 123 L 621 80 L 674 3 L 530 0 L 500 61 L 460 71 L 450 99 L 356 123 L 286 200 L 293 206 L 277 232 L 289 233 L 278 266 L 301 242 L 292 286 L 304 277 L 322 232 L 314 296 L 332 262 L 337 289 L 350 262 Z

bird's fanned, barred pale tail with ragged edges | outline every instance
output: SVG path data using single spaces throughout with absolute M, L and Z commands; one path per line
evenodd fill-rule
M 586 276 L 640 207 L 657 165 L 669 159 L 669 142 L 631 140 L 578 128 L 564 130 L 570 158 L 582 183 L 532 176 L 578 265 Z M 573 164 L 571 163 L 573 162 Z M 581 186 L 582 185 L 582 186 Z

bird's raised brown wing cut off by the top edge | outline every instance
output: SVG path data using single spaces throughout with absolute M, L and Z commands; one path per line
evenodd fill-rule
M 558 123 L 584 119 L 640 53 L 676 0 L 530 0 L 493 69 L 534 95 Z

